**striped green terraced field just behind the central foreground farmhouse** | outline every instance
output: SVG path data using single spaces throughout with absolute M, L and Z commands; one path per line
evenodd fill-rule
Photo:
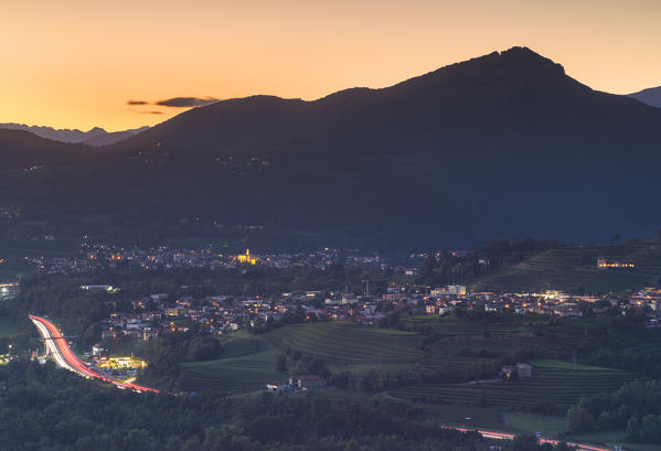
M 391 333 L 392 332 L 392 333 Z M 331 371 L 350 369 L 356 375 L 373 368 L 411 367 L 425 358 L 422 337 L 415 333 L 363 327 L 352 323 L 291 325 L 257 336 L 223 339 L 224 357 L 212 362 L 182 364 L 177 389 L 226 393 L 250 391 L 271 380 L 284 380 L 296 365 L 289 358 L 289 373 L 275 371 L 276 357 L 290 351 L 320 358 Z

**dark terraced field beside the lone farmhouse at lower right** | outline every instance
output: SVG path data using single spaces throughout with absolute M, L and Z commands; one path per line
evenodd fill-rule
M 391 396 L 426 398 L 436 402 L 475 405 L 482 398 L 489 406 L 510 407 L 550 400 L 569 406 L 582 396 L 617 390 L 636 375 L 618 369 L 589 367 L 558 361 L 533 362 L 533 378 L 522 382 L 483 384 L 420 384 L 390 391 Z

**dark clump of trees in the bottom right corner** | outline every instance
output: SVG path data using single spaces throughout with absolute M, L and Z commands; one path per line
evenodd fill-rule
M 567 411 L 572 432 L 627 429 L 628 440 L 661 440 L 661 382 L 635 380 L 612 394 L 582 398 Z

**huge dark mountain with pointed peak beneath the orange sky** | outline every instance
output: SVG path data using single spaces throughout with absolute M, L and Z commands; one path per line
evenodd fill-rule
M 53 170 L 46 191 L 153 239 L 199 221 L 290 246 L 603 240 L 657 234 L 659 142 L 661 110 L 514 47 L 384 89 L 195 108 Z

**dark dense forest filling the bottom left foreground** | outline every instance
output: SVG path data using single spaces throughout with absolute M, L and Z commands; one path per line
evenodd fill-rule
M 0 368 L 6 451 L 487 451 L 476 432 L 439 428 L 422 409 L 321 394 L 138 395 L 99 387 L 52 364 Z M 534 437 L 503 451 L 548 451 Z M 558 451 L 566 448 L 558 447 Z

